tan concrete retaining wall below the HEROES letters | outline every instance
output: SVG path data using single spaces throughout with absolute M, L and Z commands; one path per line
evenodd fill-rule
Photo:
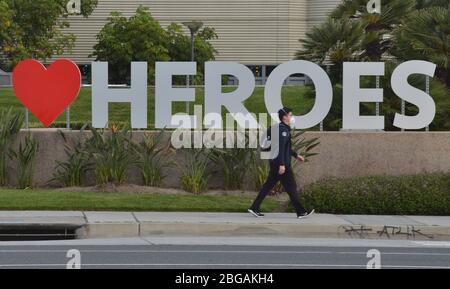
M 36 186 L 55 185 L 48 181 L 52 178 L 55 161 L 66 157 L 64 140 L 56 129 L 33 129 L 30 132 L 40 143 L 35 168 Z M 23 139 L 26 133 L 22 131 L 19 139 Z M 67 131 L 66 135 L 78 137 L 80 133 Z M 142 135 L 143 132 L 133 132 L 137 140 Z M 305 136 L 319 137 L 321 144 L 315 150 L 318 156 L 296 168 L 300 186 L 331 176 L 404 175 L 450 170 L 450 132 L 307 132 Z M 178 152 L 175 160 L 182 163 L 183 159 L 182 153 Z M 164 185 L 179 187 L 179 167 L 170 168 L 167 173 Z M 15 174 L 12 164 L 12 185 L 15 184 Z M 221 179 L 219 174 L 215 174 L 211 177 L 211 186 L 220 187 Z M 94 184 L 93 176 L 90 175 L 87 181 Z M 138 171 L 130 172 L 129 182 L 141 183 Z

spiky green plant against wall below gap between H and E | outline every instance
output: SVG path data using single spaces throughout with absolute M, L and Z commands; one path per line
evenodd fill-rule
M 158 187 L 166 177 L 163 169 L 173 165 L 170 154 L 170 142 L 162 145 L 164 130 L 157 134 L 145 134 L 139 144 L 133 144 L 137 156 L 137 165 L 141 170 L 146 186 Z

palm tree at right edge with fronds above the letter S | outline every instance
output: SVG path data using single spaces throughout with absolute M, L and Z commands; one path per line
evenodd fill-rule
M 409 14 L 394 35 L 393 54 L 397 58 L 435 63 L 438 66 L 437 77 L 450 87 L 450 5 Z

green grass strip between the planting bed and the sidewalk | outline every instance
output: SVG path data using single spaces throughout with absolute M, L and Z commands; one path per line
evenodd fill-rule
M 241 196 L 0 189 L 0 210 L 245 212 L 252 201 Z M 267 198 L 262 210 L 278 206 Z

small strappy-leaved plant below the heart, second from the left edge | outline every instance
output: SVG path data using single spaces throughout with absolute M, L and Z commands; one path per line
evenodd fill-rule
M 11 157 L 17 160 L 17 183 L 19 189 L 33 185 L 34 163 L 39 144 L 30 134 L 25 137 L 25 143 L 20 142 L 18 151 L 10 151 Z

